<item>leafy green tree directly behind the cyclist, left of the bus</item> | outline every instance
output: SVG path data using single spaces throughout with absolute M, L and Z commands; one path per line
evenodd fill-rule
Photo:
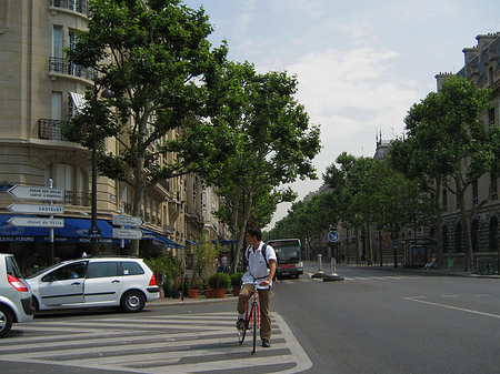
M 259 74 L 248 62 L 224 64 L 211 90 L 220 114 L 213 123 L 230 129 L 236 151 L 220 168 L 206 168 L 208 181 L 226 199 L 231 231 L 243 244 L 247 222 L 263 225 L 269 204 L 294 198 L 280 189 L 297 178 L 316 178 L 313 156 L 319 152 L 319 128 L 310 125 L 304 108 L 297 102 L 297 78 L 286 72 Z M 237 257 L 232 256 L 233 260 Z

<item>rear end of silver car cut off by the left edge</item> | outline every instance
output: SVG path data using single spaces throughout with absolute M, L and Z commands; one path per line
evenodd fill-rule
M 12 254 L 0 253 L 0 337 L 12 323 L 33 320 L 31 290 L 22 279 Z

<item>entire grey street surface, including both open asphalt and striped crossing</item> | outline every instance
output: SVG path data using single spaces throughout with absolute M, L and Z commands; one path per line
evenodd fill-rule
M 337 271 L 344 281 L 304 275 L 276 285 L 272 346 L 256 355 L 250 342 L 236 342 L 231 297 L 138 314 L 38 316 L 0 342 L 0 373 L 500 371 L 500 279 Z

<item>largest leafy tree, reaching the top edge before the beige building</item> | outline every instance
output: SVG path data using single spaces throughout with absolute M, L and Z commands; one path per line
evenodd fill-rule
M 229 152 L 226 132 L 203 121 L 214 115 L 208 84 L 227 50 L 211 50 L 207 38 L 212 27 L 204 11 L 180 0 L 92 0 L 89 6 L 88 31 L 68 54 L 96 70 L 97 87 L 113 97 L 103 100 L 97 98 L 99 90 L 88 91 L 87 110 L 66 134 L 89 146 L 94 120 L 98 140 L 117 141 L 117 151 L 99 150 L 99 172 L 133 189 L 132 214 L 140 215 L 148 186 L 196 172 L 197 158 L 217 164 Z M 99 108 L 92 108 L 94 102 Z M 167 137 L 173 131 L 180 137 Z M 176 152 L 174 161 L 167 160 L 168 152 Z M 132 244 L 137 254 L 139 243 Z

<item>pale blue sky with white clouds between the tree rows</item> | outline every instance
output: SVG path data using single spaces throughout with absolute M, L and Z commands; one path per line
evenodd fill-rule
M 184 0 L 203 7 L 214 47 L 259 73 L 297 75 L 297 100 L 321 129 L 318 180 L 291 188 L 302 200 L 342 152 L 373 156 L 381 134 L 402 134 L 409 109 L 457 73 L 478 34 L 500 32 L 496 0 Z M 271 224 L 287 215 L 279 204 Z

